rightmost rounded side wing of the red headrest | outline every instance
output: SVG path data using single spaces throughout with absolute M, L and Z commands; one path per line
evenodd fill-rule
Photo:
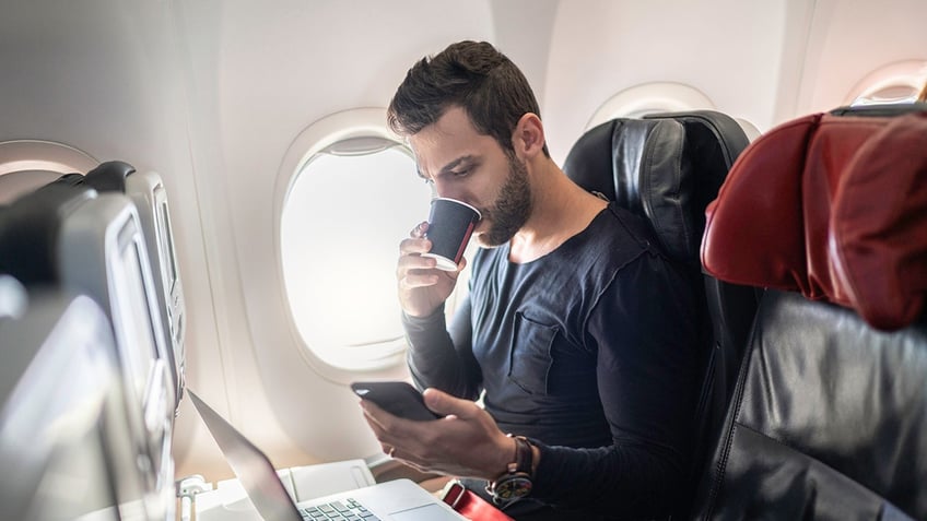
M 913 322 L 927 292 L 927 114 L 895 118 L 854 155 L 832 212 L 838 286 L 870 324 Z

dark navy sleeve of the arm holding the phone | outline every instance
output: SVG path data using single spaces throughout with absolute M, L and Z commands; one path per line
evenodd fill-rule
M 668 513 L 687 475 L 699 395 L 692 287 L 691 276 L 653 253 L 618 272 L 586 330 L 613 442 L 599 449 L 537 443 L 532 496 L 564 508 Z

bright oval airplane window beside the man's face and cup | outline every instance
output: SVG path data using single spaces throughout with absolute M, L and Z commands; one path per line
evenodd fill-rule
M 376 367 L 406 348 L 396 259 L 432 198 L 414 171 L 399 142 L 352 137 L 312 155 L 286 194 L 280 246 L 290 309 L 308 348 L 333 366 Z

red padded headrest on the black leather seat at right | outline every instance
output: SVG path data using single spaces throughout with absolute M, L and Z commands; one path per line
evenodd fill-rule
M 781 125 L 741 154 L 706 214 L 702 262 L 717 279 L 904 327 L 927 291 L 927 113 Z

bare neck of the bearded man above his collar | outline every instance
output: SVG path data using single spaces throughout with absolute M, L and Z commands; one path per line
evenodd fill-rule
M 606 208 L 606 201 L 592 196 L 556 167 L 532 179 L 531 216 L 509 241 L 508 260 L 516 264 L 539 259 L 586 229 Z

